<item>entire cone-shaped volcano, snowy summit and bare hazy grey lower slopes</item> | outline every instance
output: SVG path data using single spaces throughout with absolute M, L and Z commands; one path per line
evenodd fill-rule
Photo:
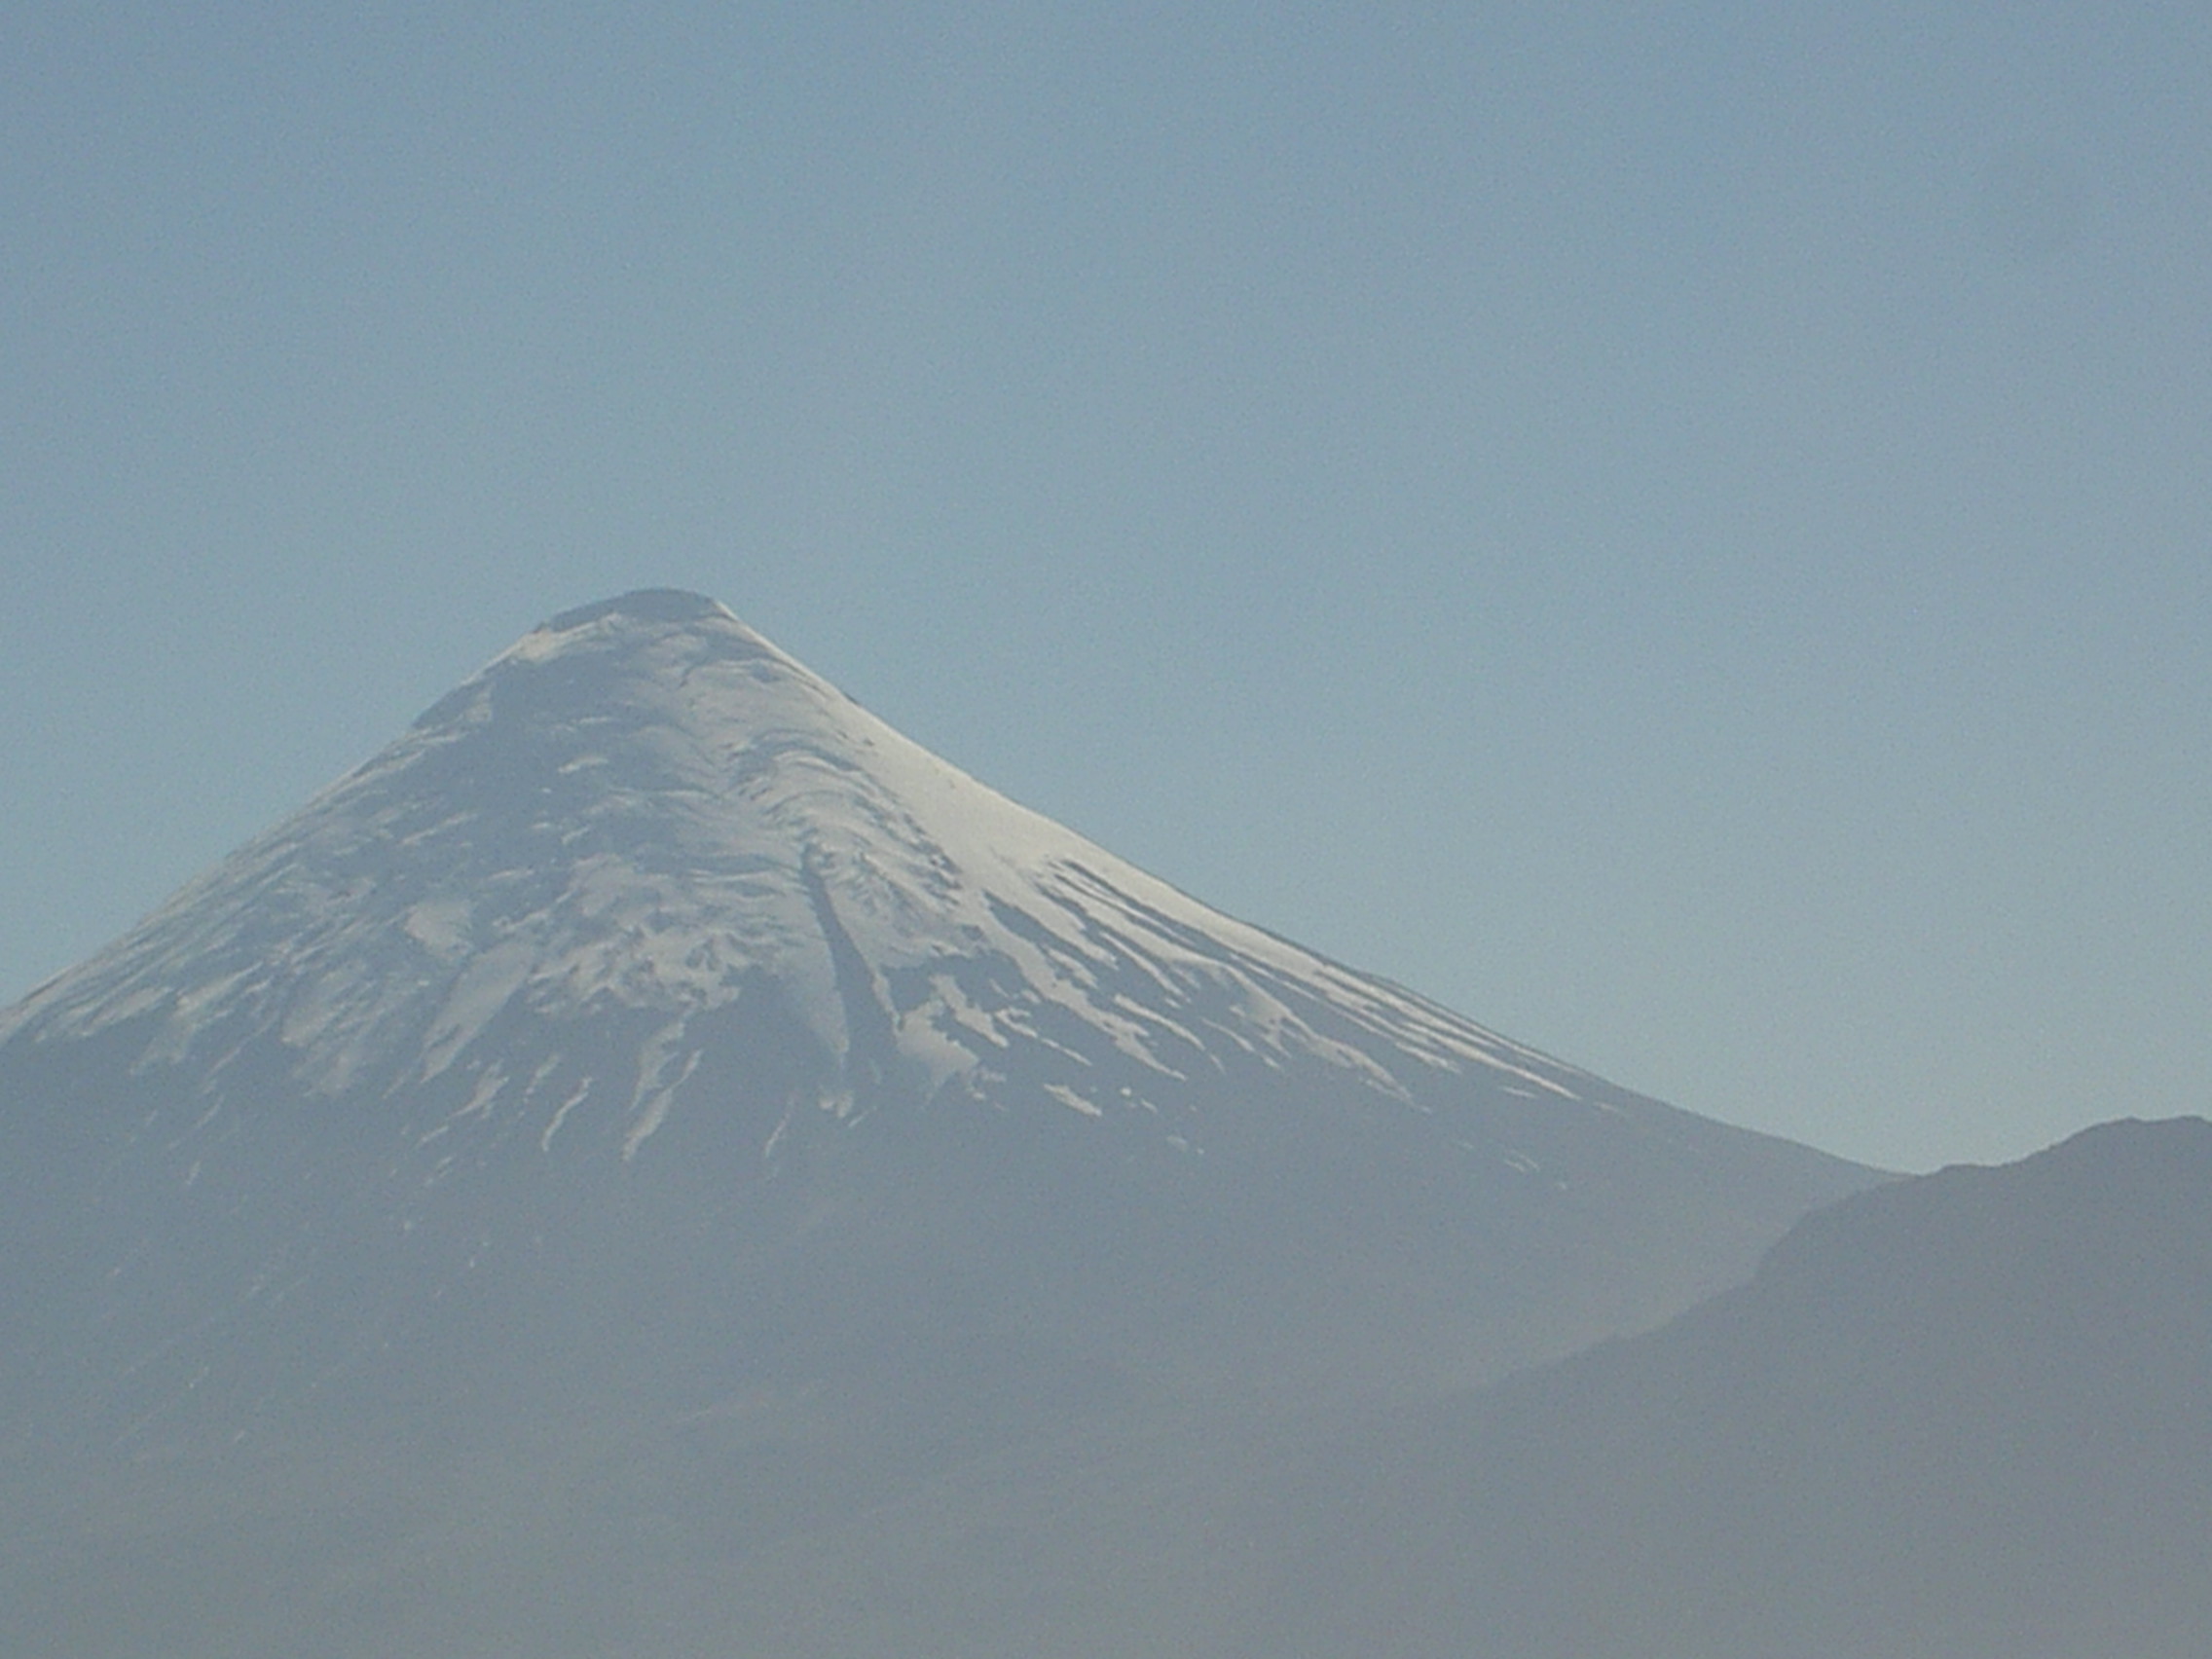
M 334 1619 L 522 1489 L 754 1559 L 1009 1447 L 1652 1325 L 1874 1179 L 1225 918 L 635 593 L 0 1015 L 0 1455 L 75 1493 L 0 1597 L 38 1559 L 22 1630 L 113 1646 L 55 1586 L 122 1619 L 126 1562 L 201 1586 L 166 1650 L 250 1652 L 254 1597 Z M 447 1641 L 394 1597 L 330 1650 Z

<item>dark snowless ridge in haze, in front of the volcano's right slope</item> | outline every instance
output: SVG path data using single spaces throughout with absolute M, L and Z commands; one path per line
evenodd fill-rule
M 1347 1440 L 1252 1652 L 2212 1652 L 2212 1124 L 1798 1223 L 1659 1332 Z

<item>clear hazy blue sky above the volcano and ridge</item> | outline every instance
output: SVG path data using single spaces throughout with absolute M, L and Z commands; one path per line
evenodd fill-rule
M 2212 1108 L 2212 7 L 0 11 L 0 1000 L 712 593 L 1924 1168 Z

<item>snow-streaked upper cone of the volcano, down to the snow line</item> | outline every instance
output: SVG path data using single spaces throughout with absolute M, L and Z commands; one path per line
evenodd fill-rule
M 1199 905 L 670 591 L 526 635 L 0 1042 L 128 1026 L 135 1064 L 206 1066 L 215 1095 L 261 1046 L 310 1095 L 445 1079 L 460 1124 L 551 1144 L 586 1110 L 637 1155 L 745 1002 L 812 1033 L 807 1106 L 834 1115 L 1018 1079 L 1197 1146 L 1194 1079 L 1250 1064 L 1405 1102 L 1431 1073 L 1584 1110 L 1604 1088 Z M 617 1011 L 635 1053 L 562 1053 Z M 518 1022 L 542 1037 L 520 1073 Z

